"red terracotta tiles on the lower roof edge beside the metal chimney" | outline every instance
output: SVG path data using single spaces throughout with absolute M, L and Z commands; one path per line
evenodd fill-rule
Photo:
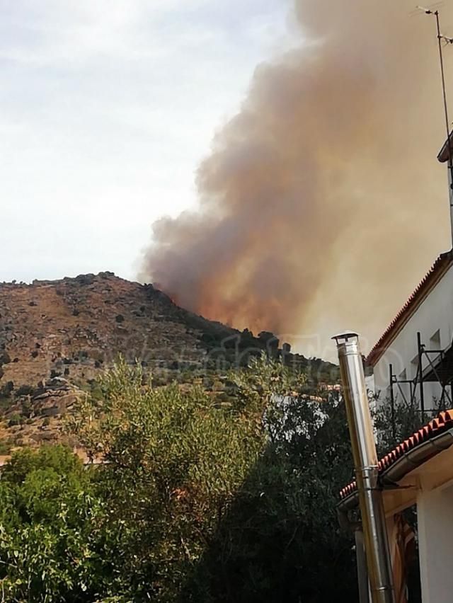
M 437 417 L 428 423 L 428 425 L 420 427 L 420 429 L 409 436 L 407 440 L 404 440 L 404 442 L 401 442 L 393 450 L 383 456 L 378 463 L 379 473 L 383 473 L 386 469 L 389 469 L 389 467 L 396 463 L 401 456 L 418 446 L 418 444 L 422 444 L 423 442 L 430 440 L 431 437 L 440 435 L 442 431 L 452 429 L 452 427 L 453 409 L 442 411 L 442 413 L 439 413 Z M 343 500 L 343 498 L 346 498 L 355 492 L 355 490 L 357 490 L 357 483 L 352 481 L 351 483 L 348 483 L 348 486 L 345 486 L 340 490 L 340 498 Z

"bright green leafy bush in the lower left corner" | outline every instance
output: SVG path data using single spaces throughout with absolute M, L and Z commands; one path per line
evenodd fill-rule
M 13 454 L 0 481 L 0 585 L 4 601 L 91 600 L 101 503 L 71 450 Z

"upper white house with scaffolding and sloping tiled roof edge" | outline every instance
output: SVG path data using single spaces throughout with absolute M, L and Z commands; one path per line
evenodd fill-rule
M 450 143 L 452 146 L 453 144 Z M 447 142 L 437 156 L 448 161 L 453 232 L 451 154 Z M 367 357 L 378 403 L 384 398 L 436 403 L 453 408 L 453 250 L 441 253 Z M 453 599 L 452 599 L 453 600 Z

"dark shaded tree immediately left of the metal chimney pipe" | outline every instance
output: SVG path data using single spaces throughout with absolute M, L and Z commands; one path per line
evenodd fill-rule
M 188 600 L 354 600 L 350 538 L 335 509 L 352 467 L 343 405 L 320 400 L 303 375 L 272 361 L 253 361 L 231 378 L 241 406 L 265 401 L 267 446 L 219 524 Z

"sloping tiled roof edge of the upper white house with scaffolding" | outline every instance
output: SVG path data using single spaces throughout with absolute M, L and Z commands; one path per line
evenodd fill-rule
M 411 315 L 411 311 L 414 310 L 420 302 L 423 301 L 425 295 L 430 290 L 430 287 L 435 285 L 437 280 L 442 276 L 443 272 L 453 263 L 453 250 L 447 251 L 447 253 L 441 253 L 435 263 L 432 265 L 427 275 L 420 281 L 415 287 L 411 297 L 407 300 L 406 304 L 403 305 L 401 310 L 396 314 L 395 318 L 389 326 L 386 328 L 384 333 L 381 335 L 377 343 L 374 345 L 372 350 L 367 356 L 367 363 L 374 366 L 379 358 L 385 352 L 389 343 L 394 338 L 398 329 L 403 326 L 407 318 Z

